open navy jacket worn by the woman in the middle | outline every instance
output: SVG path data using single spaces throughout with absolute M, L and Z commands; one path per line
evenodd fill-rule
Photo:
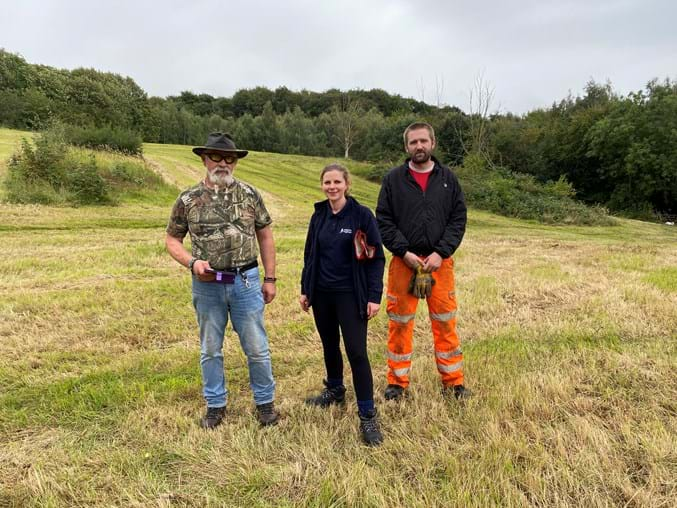
M 303 271 L 301 272 L 301 294 L 308 297 L 313 304 L 313 294 L 317 281 L 317 249 L 319 232 L 327 217 L 331 213 L 329 201 L 315 203 L 315 213 L 310 218 L 306 247 L 303 252 Z M 364 318 L 367 313 L 367 303 L 381 303 L 383 295 L 383 269 L 385 267 L 385 255 L 381 236 L 376 226 L 376 220 L 371 210 L 360 205 L 354 198 L 348 197 L 346 203 L 346 217 L 352 222 L 353 236 L 358 229 L 367 235 L 367 244 L 376 247 L 376 253 L 372 259 L 358 261 L 353 254 L 352 275 L 355 296 L 360 306 L 360 315 Z

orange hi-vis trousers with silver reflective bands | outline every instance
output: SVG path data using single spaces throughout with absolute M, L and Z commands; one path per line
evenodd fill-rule
M 388 269 L 388 384 L 409 386 L 413 352 L 414 318 L 418 298 L 410 294 L 413 271 L 402 258 L 393 257 Z M 454 261 L 442 260 L 433 272 L 435 284 L 427 298 L 428 312 L 435 342 L 437 370 L 445 386 L 463 384 L 463 353 L 456 334 L 456 295 Z

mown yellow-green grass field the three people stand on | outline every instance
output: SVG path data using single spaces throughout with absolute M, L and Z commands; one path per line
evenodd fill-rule
M 0 130 L 3 157 L 19 137 Z M 178 187 L 202 176 L 188 147 L 144 153 Z M 0 506 L 675 506 L 675 228 L 549 227 L 471 210 L 456 263 L 477 395 L 442 398 L 421 305 L 411 396 L 386 403 L 382 312 L 369 349 L 385 443 L 370 449 L 352 389 L 345 408 L 302 402 L 324 375 L 296 302 L 326 162 L 251 153 L 236 172 L 275 220 L 266 321 L 283 420 L 267 429 L 232 331 L 227 421 L 197 425 L 190 281 L 163 242 L 171 200 L 0 204 Z M 354 187 L 373 207 L 378 186 Z

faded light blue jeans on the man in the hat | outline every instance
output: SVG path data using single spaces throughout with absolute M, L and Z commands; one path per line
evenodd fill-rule
M 245 284 L 242 275 L 249 282 Z M 266 404 L 275 398 L 275 380 L 263 326 L 263 295 L 258 268 L 235 277 L 233 284 L 201 282 L 193 276 L 193 307 L 200 326 L 202 393 L 208 407 L 226 405 L 228 390 L 223 372 L 223 337 L 228 315 L 247 356 L 249 385 L 254 402 Z

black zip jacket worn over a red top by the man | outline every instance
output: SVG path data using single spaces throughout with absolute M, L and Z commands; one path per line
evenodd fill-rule
M 383 245 L 395 256 L 437 252 L 448 258 L 461 244 L 467 222 L 461 185 L 449 168 L 433 161 L 425 192 L 409 173 L 409 159 L 383 178 L 376 220 Z

